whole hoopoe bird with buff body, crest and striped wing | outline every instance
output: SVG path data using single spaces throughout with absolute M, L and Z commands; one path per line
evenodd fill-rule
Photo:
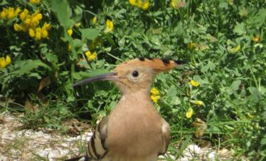
M 170 142 L 170 126 L 151 102 L 150 90 L 156 73 L 169 71 L 179 61 L 136 58 L 121 63 L 112 73 L 87 78 L 73 87 L 92 81 L 113 81 L 122 98 L 97 125 L 84 157 L 70 160 L 155 161 Z

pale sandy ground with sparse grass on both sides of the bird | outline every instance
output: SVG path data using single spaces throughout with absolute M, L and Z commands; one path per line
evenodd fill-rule
M 18 118 L 10 113 L 0 114 L 0 160 L 64 160 L 84 152 L 92 131 L 82 135 L 60 135 L 49 130 L 26 130 Z M 229 150 L 212 150 L 197 145 L 188 145 L 183 157 L 173 160 L 232 160 Z M 161 158 L 160 160 L 166 160 Z

